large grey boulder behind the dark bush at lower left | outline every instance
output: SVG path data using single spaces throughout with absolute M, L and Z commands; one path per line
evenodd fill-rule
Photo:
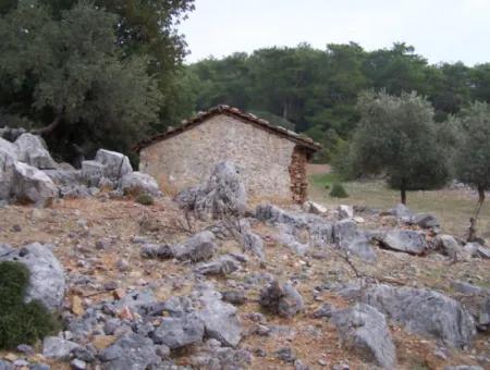
M 9 248 L 0 256 L 0 261 L 17 261 L 29 270 L 26 301 L 40 300 L 50 310 L 61 307 L 65 291 L 63 267 L 48 246 L 33 243 L 22 248 Z

